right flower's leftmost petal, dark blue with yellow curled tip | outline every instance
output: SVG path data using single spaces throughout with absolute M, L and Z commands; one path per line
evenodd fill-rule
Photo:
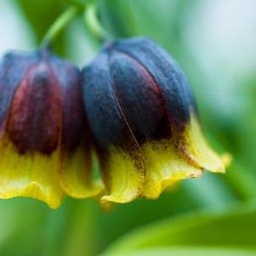
M 108 53 L 101 52 L 82 74 L 88 121 L 108 193 L 102 201 L 130 202 L 143 187 L 144 157 L 112 88 Z

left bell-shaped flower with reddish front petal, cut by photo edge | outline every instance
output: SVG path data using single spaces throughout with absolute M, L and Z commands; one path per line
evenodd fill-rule
M 94 196 L 91 142 L 76 66 L 47 48 L 11 52 L 0 65 L 0 197 L 57 208 L 65 194 Z

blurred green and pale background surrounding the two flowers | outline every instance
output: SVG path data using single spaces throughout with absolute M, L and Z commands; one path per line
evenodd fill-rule
M 0 0 L 0 54 L 37 48 L 68 4 Z M 0 256 L 256 255 L 256 1 L 102 0 L 99 8 L 115 37 L 151 37 L 178 60 L 208 140 L 232 165 L 108 212 L 94 200 L 66 198 L 58 210 L 1 200 Z M 54 44 L 80 67 L 99 48 L 82 16 Z

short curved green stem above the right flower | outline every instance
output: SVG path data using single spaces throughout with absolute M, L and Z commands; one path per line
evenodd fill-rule
M 85 10 L 84 18 L 89 30 L 94 34 L 94 37 L 98 38 L 100 42 L 108 41 L 111 39 L 110 34 L 100 25 L 100 21 L 97 18 L 96 5 L 90 4 Z

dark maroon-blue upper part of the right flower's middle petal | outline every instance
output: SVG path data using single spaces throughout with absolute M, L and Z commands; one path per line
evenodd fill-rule
M 151 74 L 125 53 L 111 51 L 115 94 L 139 144 L 171 134 L 162 91 Z

